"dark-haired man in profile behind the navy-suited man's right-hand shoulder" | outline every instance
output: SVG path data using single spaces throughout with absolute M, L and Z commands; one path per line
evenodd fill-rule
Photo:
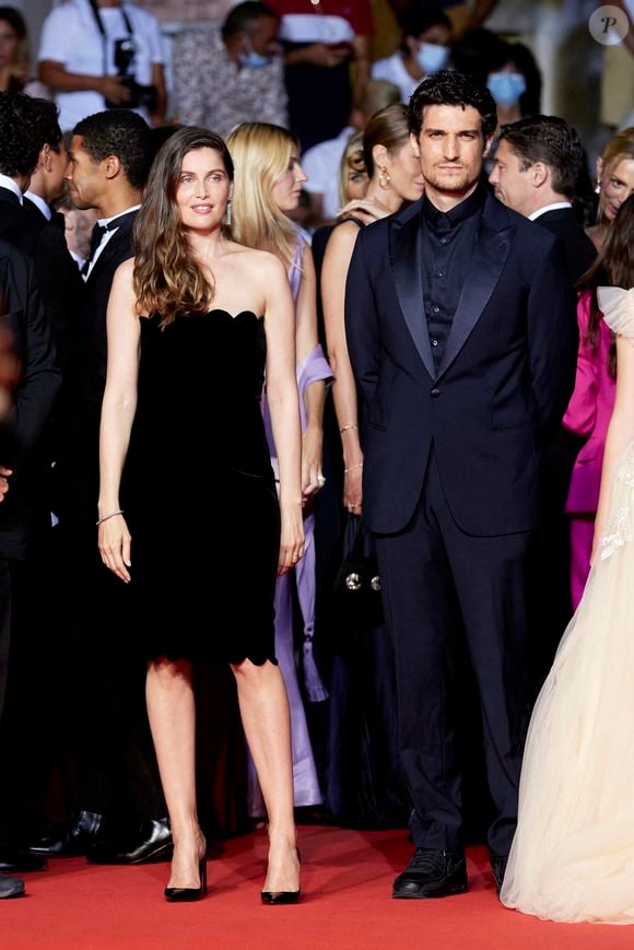
M 557 116 L 533 116 L 502 127 L 489 176 L 496 198 L 560 238 L 575 284 L 597 257 L 572 206 L 584 161 L 580 139 L 572 126 Z M 584 442 L 557 426 L 542 456 L 541 512 L 529 572 L 535 692 L 550 669 L 573 613 L 571 526 L 565 503 Z

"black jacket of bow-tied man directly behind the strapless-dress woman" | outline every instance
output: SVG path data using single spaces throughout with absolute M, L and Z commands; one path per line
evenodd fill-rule
M 56 511 L 96 516 L 99 484 L 99 421 L 106 385 L 106 312 L 115 271 L 132 257 L 137 212 L 121 215 L 117 231 L 101 251 L 85 283 L 77 345 L 63 395 L 63 444 L 56 466 Z

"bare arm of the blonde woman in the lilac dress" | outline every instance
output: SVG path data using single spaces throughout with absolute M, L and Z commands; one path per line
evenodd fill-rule
M 297 366 L 319 345 L 317 336 L 317 279 L 313 254 L 304 244 L 302 283 L 295 307 L 295 348 Z M 302 493 L 305 499 L 320 488 L 321 453 L 324 447 L 324 403 L 326 383 L 316 379 L 306 387 L 304 404 L 306 427 L 302 435 Z

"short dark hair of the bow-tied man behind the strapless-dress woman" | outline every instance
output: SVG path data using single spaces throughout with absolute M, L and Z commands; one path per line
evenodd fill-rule
M 82 119 L 72 130 L 95 164 L 116 155 L 133 188 L 143 188 L 152 164 L 150 126 L 130 109 L 107 109 Z

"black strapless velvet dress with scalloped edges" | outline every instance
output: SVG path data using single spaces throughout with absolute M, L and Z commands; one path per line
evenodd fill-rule
M 260 397 L 263 321 L 246 310 L 141 320 L 122 480 L 130 590 L 149 658 L 274 660 L 280 512 Z

